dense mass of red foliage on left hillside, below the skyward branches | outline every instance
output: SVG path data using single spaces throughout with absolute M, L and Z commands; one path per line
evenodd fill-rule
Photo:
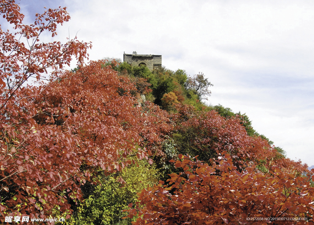
M 90 181 L 93 169 L 119 171 L 132 163 L 130 154 L 148 159 L 135 148 L 145 130 L 130 94 L 134 86 L 103 63 L 17 92 L 19 104 L 2 123 L 2 193 L 14 196 L 2 200 L 2 213 L 45 216 L 56 206 L 65 212 L 68 198 L 81 199 L 80 185 Z

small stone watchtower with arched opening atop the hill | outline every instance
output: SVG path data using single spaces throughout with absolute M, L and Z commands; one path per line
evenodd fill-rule
M 131 66 L 147 66 L 150 71 L 161 68 L 161 55 L 123 54 L 123 62 Z

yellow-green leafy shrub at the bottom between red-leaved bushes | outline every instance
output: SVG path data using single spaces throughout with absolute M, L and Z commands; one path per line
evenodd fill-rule
M 137 201 L 138 192 L 158 183 L 158 170 L 140 160 L 121 172 L 97 178 L 101 184 L 78 207 L 73 220 L 78 225 L 130 225 L 136 218 L 121 219 L 127 215 L 122 210 Z

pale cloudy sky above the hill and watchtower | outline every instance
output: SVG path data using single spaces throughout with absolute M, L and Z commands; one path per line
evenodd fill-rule
M 293 160 L 314 165 L 313 1 L 23 1 L 25 21 L 66 6 L 71 20 L 42 41 L 92 41 L 91 60 L 162 55 L 166 68 L 203 72 L 209 104 L 246 113 Z

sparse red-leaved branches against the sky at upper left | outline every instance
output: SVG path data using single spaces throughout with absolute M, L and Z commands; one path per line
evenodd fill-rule
M 4 32 L 0 29 L 0 94 L 6 95 L 0 101 L 0 109 L 12 105 L 8 101 L 25 83 L 28 78 L 42 77 L 47 68 L 62 69 L 69 65 L 71 58 L 83 62 L 88 56 L 89 43 L 79 42 L 76 37 L 66 44 L 60 41 L 40 43 L 42 33 L 48 31 L 52 37 L 57 35 L 57 24 L 63 24 L 70 19 L 66 8 L 48 9 L 43 14 L 36 14 L 34 24 L 23 24 L 24 15 L 19 12 L 19 6 L 14 0 L 3 0 L 0 3 L 0 13 L 10 24 L 14 24 L 14 32 Z

